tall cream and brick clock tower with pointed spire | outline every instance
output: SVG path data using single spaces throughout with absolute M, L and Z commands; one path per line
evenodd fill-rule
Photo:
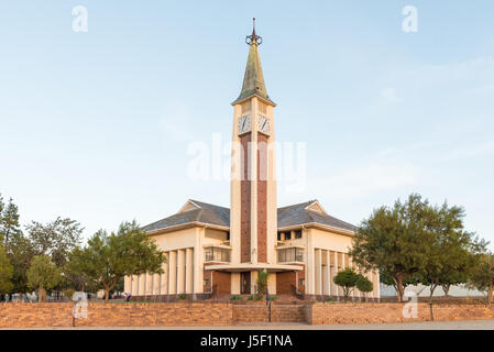
M 232 264 L 241 273 L 241 293 L 250 294 L 262 264 L 275 264 L 277 231 L 275 134 L 273 108 L 264 84 L 259 46 L 262 37 L 245 37 L 249 57 L 242 90 L 233 106 L 230 242 Z

